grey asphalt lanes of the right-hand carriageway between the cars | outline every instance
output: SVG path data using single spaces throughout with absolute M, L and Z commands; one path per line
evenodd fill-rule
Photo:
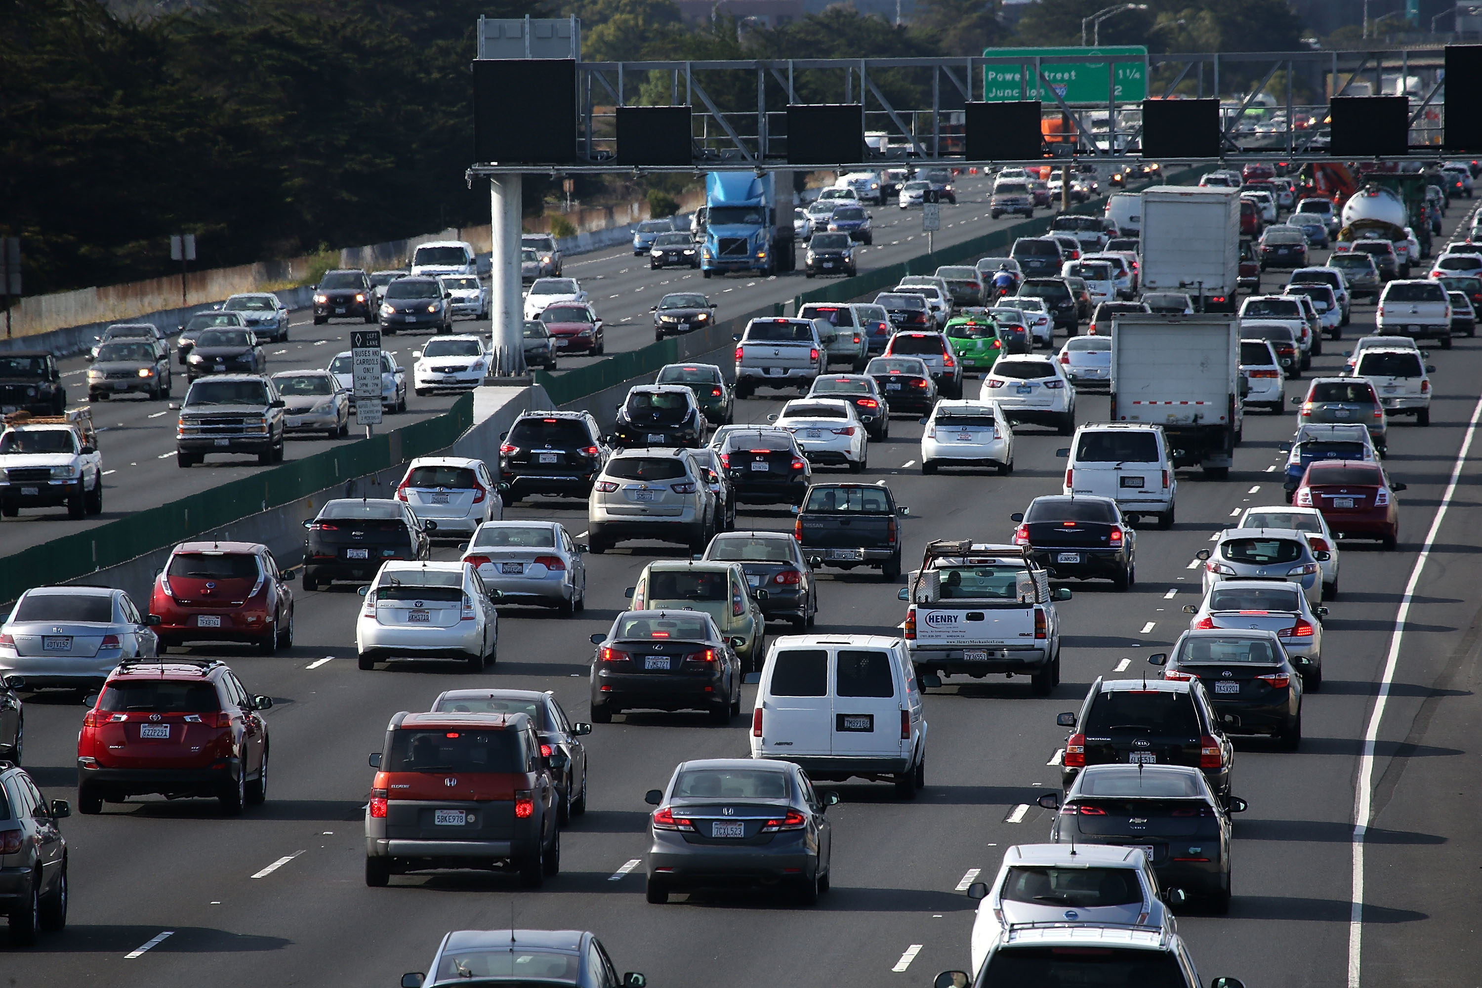
M 880 255 L 889 256 L 885 249 Z M 618 255 L 574 261 L 568 271 L 631 286 L 600 299 L 621 320 L 637 313 L 627 301 L 636 281 L 651 283 L 646 270 L 633 277 L 633 267 Z M 1277 277 L 1269 274 L 1267 283 Z M 720 284 L 729 287 L 708 287 Z M 1371 305 L 1356 307 L 1347 336 L 1366 332 L 1372 317 Z M 1335 372 L 1341 350 L 1329 345 L 1313 370 Z M 1341 595 L 1326 621 L 1325 683 L 1307 696 L 1300 751 L 1237 742 L 1235 794 L 1249 810 L 1236 818 L 1233 907 L 1229 917 L 1180 918 L 1206 984 L 1215 975 L 1251 988 L 1476 981 L 1482 471 L 1467 450 L 1476 455 L 1482 347 L 1463 339 L 1449 353 L 1433 351 L 1432 361 L 1439 366 L 1432 425 L 1406 419 L 1390 433 L 1387 467 L 1409 486 L 1400 495 L 1399 551 L 1344 545 Z M 1288 397 L 1303 388 L 1289 384 Z M 777 407 L 775 398 L 747 400 L 737 419 L 760 422 Z M 1106 397 L 1083 394 L 1080 409 L 1080 421 L 1104 418 Z M 1051 698 L 1031 698 L 1027 683 L 1002 678 L 929 692 L 926 788 L 916 801 L 900 803 L 888 785 L 836 787 L 843 803 L 830 810 L 833 890 L 814 908 L 745 895 L 664 907 L 643 901 L 643 869 L 634 862 L 646 849 L 645 791 L 664 785 L 682 758 L 747 752 L 744 717 L 713 727 L 683 714 L 597 726 L 587 739 L 591 809 L 565 832 L 562 874 L 542 890 L 480 874 L 368 889 L 366 754 L 379 750 L 393 712 L 474 680 L 437 664 L 359 671 L 353 630 L 360 598 L 353 587 L 338 587 L 299 591 L 296 644 L 285 653 L 191 650 L 224 658 L 249 692 L 274 698 L 267 804 L 222 818 L 215 801 L 135 798 L 102 816 L 65 821 L 70 924 L 43 935 L 36 948 L 4 952 L 0 966 L 16 985 L 394 985 L 402 972 L 427 969 L 446 930 L 513 920 L 594 930 L 618 970 L 645 972 L 657 988 L 697 976 L 735 987 L 931 984 L 935 972 L 968 964 L 975 904 L 956 889 L 977 871 L 991 875 L 1006 846 L 1048 834 L 1049 812 L 1034 798 L 1058 784 L 1066 732 L 1055 714 L 1074 710 L 1097 677 L 1141 674 L 1144 656 L 1187 627 L 1181 607 L 1199 600 L 1194 554 L 1243 508 L 1280 502 L 1277 446 L 1292 430 L 1291 413 L 1252 413 L 1227 481 L 1181 477 L 1178 523 L 1141 533 L 1138 584 L 1129 593 L 1071 585 L 1074 598 L 1060 604 L 1063 683 Z M 1063 461 L 1054 453 L 1064 440 L 1048 430 L 1020 430 L 1012 477 L 923 477 L 919 434 L 914 416 L 898 418 L 889 441 L 871 450 L 865 474 L 910 505 L 907 558 L 934 538 L 1005 539 L 1009 513 L 1060 490 Z M 139 470 L 175 477 L 163 462 Z M 585 530 L 584 504 L 575 501 L 525 502 L 507 517 L 559 518 L 572 533 Z M 740 523 L 791 529 L 791 515 L 748 510 Z M 445 545 L 439 557 L 453 551 Z M 646 561 L 673 555 L 671 547 L 637 544 L 588 557 L 590 601 L 575 618 L 507 609 L 499 662 L 477 681 L 554 690 L 574 718 L 585 720 L 588 635 L 625 606 L 622 588 Z M 820 585 L 820 632 L 891 634 L 903 616 L 897 587 L 877 578 L 830 573 Z M 70 797 L 76 784 L 77 699 L 25 698 L 27 764 L 47 795 Z M 1362 794 L 1372 816 L 1365 818 L 1362 868 L 1355 871 L 1360 779 L 1369 782 Z

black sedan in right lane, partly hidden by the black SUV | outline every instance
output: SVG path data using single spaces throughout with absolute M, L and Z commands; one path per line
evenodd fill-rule
M 1171 656 L 1147 661 L 1163 667 L 1163 678 L 1200 680 L 1227 732 L 1270 735 L 1286 751 L 1301 744 L 1301 674 L 1275 631 L 1186 631 Z

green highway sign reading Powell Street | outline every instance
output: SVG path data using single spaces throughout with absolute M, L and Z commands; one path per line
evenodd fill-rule
M 1095 61 L 1097 55 L 1137 55 L 1141 62 L 1114 62 L 1117 102 L 1140 102 L 1147 99 L 1147 49 L 1141 44 L 1114 44 L 1104 47 L 986 47 L 984 58 L 1085 58 L 1083 62 L 1057 62 L 1043 65 L 1051 89 L 1069 104 L 1106 105 L 1107 62 Z M 1023 71 L 1023 76 L 1021 76 Z M 1055 96 L 1034 76 L 1034 62 L 984 67 L 983 98 L 988 102 L 1011 99 L 1039 99 L 1052 104 Z

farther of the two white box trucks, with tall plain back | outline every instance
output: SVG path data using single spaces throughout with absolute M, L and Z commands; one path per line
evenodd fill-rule
M 1143 190 L 1141 287 L 1186 292 L 1194 311 L 1233 313 L 1240 278 L 1240 190 Z

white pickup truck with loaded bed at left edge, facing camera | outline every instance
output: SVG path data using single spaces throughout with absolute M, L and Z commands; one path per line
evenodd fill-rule
M 67 507 L 67 517 L 102 511 L 102 455 L 92 410 L 7 415 L 0 433 L 0 514 Z

